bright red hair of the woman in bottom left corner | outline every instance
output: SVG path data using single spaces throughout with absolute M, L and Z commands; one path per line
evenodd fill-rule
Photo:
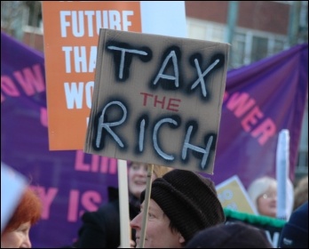
M 26 189 L 4 232 L 18 229 L 21 224 L 28 221 L 31 226 L 34 225 L 41 218 L 42 206 L 42 202 L 36 195 L 36 192 L 29 188 Z

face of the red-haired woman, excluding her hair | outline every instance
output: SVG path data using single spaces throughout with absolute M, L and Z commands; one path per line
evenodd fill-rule
M 30 222 L 26 222 L 22 223 L 18 229 L 4 231 L 1 235 L 1 248 L 31 248 L 30 227 Z

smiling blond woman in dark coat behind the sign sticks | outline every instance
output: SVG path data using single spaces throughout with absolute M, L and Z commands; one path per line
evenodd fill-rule
M 139 213 L 139 196 L 146 189 L 148 164 L 128 162 L 128 188 L 130 219 Z M 162 177 L 171 168 L 154 165 L 152 181 Z M 114 192 L 113 192 L 114 191 Z M 109 200 L 98 211 L 83 213 L 83 225 L 74 246 L 77 248 L 116 248 L 120 245 L 119 198 L 116 189 L 109 189 Z M 132 239 L 135 232 L 132 231 Z

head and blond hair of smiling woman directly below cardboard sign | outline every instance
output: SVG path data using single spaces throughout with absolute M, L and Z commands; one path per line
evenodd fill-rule
M 141 191 L 146 189 L 147 185 L 147 168 L 149 164 L 139 162 L 128 162 L 129 165 L 129 191 L 135 197 L 140 196 Z M 152 181 L 158 177 L 162 177 L 164 173 L 170 171 L 169 167 L 154 165 L 154 171 L 152 175 Z

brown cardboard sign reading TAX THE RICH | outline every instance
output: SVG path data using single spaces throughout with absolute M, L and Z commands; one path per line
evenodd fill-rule
M 84 152 L 213 173 L 228 49 L 102 28 Z

